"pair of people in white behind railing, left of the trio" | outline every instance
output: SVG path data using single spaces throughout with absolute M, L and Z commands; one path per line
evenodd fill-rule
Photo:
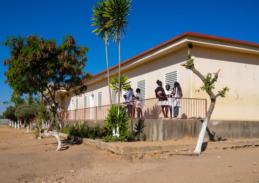
M 132 88 L 128 88 L 124 95 L 123 95 L 123 104 L 126 106 L 127 109 L 127 113 L 128 115 L 130 115 L 131 117 L 135 117 L 135 109 L 137 110 L 137 117 L 140 118 L 140 114 L 141 114 L 141 118 L 143 117 L 142 114 L 142 105 L 143 105 L 143 96 L 140 93 L 140 89 L 137 88 L 136 89 L 136 96 L 133 92 Z M 134 106 L 133 106 L 133 100 L 134 102 Z

